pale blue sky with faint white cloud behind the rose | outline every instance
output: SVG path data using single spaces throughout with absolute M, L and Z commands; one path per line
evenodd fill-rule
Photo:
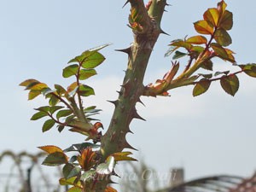
M 44 100 L 27 102 L 27 92 L 18 84 L 30 78 L 50 85 L 72 83 L 71 79 L 61 79 L 61 70 L 69 59 L 84 49 L 113 43 L 102 50 L 107 60 L 98 67 L 99 75 L 88 82 L 96 88 L 97 96 L 84 101 L 103 109 L 98 117 L 108 127 L 113 106 L 106 100 L 117 97 L 115 90 L 119 90 L 126 66 L 126 55 L 113 49 L 125 48 L 132 41 L 131 30 L 126 26 L 129 6 L 121 9 L 125 1 L 0 2 L 0 151 L 11 148 L 16 152 L 37 152 L 36 147 L 45 144 L 66 148 L 83 142 L 83 137 L 68 131 L 59 134 L 53 129 L 42 134 L 43 121 L 29 119 L 32 108 L 44 104 Z M 239 63 L 255 62 L 256 2 L 226 2 L 235 22 L 230 49 L 236 52 Z M 145 84 L 160 79 L 169 69 L 171 58 L 163 57 L 167 44 L 195 35 L 192 23 L 201 20 L 203 12 L 218 1 L 169 3 L 172 6 L 166 8 L 162 28 L 171 36 L 161 36 L 156 44 Z M 216 62 L 218 68 L 230 67 L 230 63 Z M 256 79 L 239 77 L 241 89 L 235 97 L 226 95 L 215 83 L 207 94 L 196 98 L 191 96 L 192 87 L 173 90 L 170 98 L 143 98 L 146 108 L 137 109 L 147 122 L 132 122 L 135 135 L 128 136 L 131 145 L 139 148 L 146 162 L 160 172 L 171 166 L 184 166 L 187 178 L 217 173 L 249 176 L 256 169 Z

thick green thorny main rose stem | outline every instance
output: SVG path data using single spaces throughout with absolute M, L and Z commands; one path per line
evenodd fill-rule
M 143 78 L 148 66 L 148 60 L 162 30 L 160 29 L 160 20 L 162 18 L 166 0 L 154 0 L 150 9 L 147 11 L 143 0 L 130 1 L 131 9 L 141 9 L 140 13 L 144 20 L 141 26 L 147 28 L 147 31 L 134 32 L 134 42 L 129 49 L 124 49 L 128 53 L 129 61 L 125 73 L 125 79 L 122 88 L 119 91 L 119 98 L 113 104 L 115 109 L 111 119 L 108 131 L 102 137 L 102 161 L 109 155 L 120 152 L 124 148 L 132 148 L 126 141 L 126 134 L 130 131 L 129 125 L 132 119 L 142 119 L 135 108 L 139 97 L 143 95 Z M 148 18 L 148 19 L 146 19 Z M 102 188 L 102 186 L 104 186 Z M 106 183 L 98 183 L 96 191 L 104 191 Z

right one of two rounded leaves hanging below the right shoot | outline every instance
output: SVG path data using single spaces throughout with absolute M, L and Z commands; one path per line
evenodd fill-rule
M 220 79 L 220 84 L 224 91 L 231 96 L 235 96 L 237 90 L 239 89 L 239 79 L 235 74 L 231 74 L 229 76 L 223 76 Z

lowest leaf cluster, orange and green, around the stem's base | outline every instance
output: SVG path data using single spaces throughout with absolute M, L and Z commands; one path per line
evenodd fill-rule
M 100 179 L 109 179 L 115 176 L 113 167 L 116 162 L 121 160 L 135 160 L 129 155 L 131 152 L 120 152 L 108 156 L 108 159 L 100 163 L 99 157 L 95 149 L 99 145 L 93 143 L 73 144 L 71 147 L 62 150 L 54 145 L 39 147 L 48 154 L 43 165 L 45 166 L 61 166 L 63 176 L 59 183 L 61 185 L 72 186 L 68 192 L 82 191 L 85 187 L 94 189 L 94 183 Z M 69 158 L 67 153 L 73 152 Z M 115 191 L 108 188 L 107 191 Z

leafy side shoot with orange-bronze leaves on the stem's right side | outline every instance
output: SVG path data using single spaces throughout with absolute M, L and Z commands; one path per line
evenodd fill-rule
M 180 73 L 177 78 L 174 76 L 177 74 L 180 64 L 177 61 L 172 62 L 171 70 L 166 73 L 163 79 L 158 79 L 155 84 L 148 84 L 145 87 L 145 96 L 168 96 L 167 90 L 190 84 L 195 85 L 193 96 L 200 96 L 207 92 L 213 81 L 219 81 L 226 93 L 235 96 L 239 89 L 238 73 L 244 72 L 255 77 L 255 64 L 237 65 L 234 51 L 227 48 L 232 43 L 228 31 L 233 26 L 233 14 L 226 7 L 227 4 L 223 0 L 218 3 L 217 8 L 207 9 L 203 14 L 203 20 L 194 23 L 198 35 L 171 42 L 166 56 L 173 54 L 173 60 L 188 56 L 189 62 L 183 73 Z M 214 73 L 212 59 L 215 57 L 223 61 L 230 61 L 234 66 L 240 67 L 241 70 L 236 73 L 230 73 L 230 71 Z M 199 69 L 208 70 L 212 73 L 194 74 Z

